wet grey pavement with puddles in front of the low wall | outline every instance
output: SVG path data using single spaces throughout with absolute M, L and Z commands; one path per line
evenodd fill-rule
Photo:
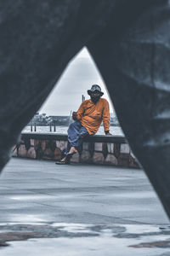
M 12 159 L 0 178 L 0 255 L 170 255 L 142 170 Z

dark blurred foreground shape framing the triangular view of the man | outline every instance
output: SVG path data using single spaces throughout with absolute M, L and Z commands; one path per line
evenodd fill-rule
M 86 45 L 170 216 L 170 2 L 0 0 L 0 166 Z

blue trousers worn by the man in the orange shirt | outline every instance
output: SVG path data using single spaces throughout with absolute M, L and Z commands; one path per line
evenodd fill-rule
M 87 129 L 82 126 L 80 121 L 75 121 L 69 125 L 68 129 L 68 143 L 67 148 L 65 150 L 65 154 L 67 154 L 71 147 L 77 148 L 79 150 L 82 145 L 82 138 L 89 135 Z

